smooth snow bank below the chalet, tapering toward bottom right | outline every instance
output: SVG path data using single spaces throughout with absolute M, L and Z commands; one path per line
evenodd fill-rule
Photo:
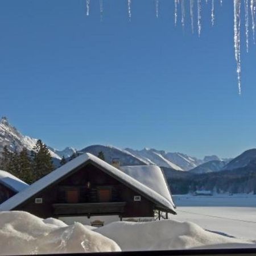
M 207 232 L 192 222 L 173 220 L 114 222 L 95 231 L 117 242 L 123 251 L 255 246 L 249 241 Z

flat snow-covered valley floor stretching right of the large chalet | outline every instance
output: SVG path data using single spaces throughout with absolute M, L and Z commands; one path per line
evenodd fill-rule
M 174 196 L 178 221 L 191 221 L 206 230 L 256 241 L 256 196 Z

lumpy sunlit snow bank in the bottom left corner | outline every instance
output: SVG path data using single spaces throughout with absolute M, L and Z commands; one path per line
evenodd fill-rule
M 1 255 L 120 251 L 117 243 L 80 223 L 67 226 L 26 212 L 0 213 L 0 248 Z

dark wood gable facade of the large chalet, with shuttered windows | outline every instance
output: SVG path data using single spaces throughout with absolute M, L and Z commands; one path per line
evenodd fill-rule
M 134 200 L 138 199 L 139 200 Z M 134 198 L 135 197 L 135 198 Z M 154 217 L 154 203 L 93 163 L 69 172 L 13 210 L 38 217 Z

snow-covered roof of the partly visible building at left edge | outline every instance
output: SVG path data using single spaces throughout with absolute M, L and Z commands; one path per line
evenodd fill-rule
M 0 170 L 0 184 L 5 185 L 15 192 L 20 192 L 23 189 L 28 187 L 27 183 L 24 183 L 22 180 L 18 179 L 14 175 L 6 171 Z

